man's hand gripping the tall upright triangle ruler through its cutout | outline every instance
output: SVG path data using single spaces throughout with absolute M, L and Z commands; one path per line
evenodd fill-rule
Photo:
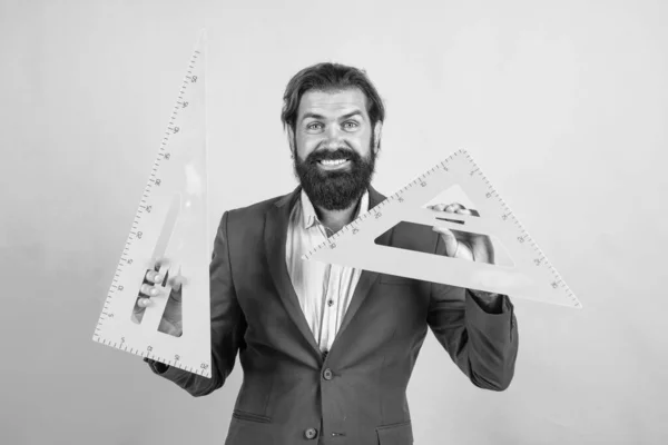
M 159 273 L 161 267 L 167 269 L 165 275 Z M 167 258 L 158 259 L 154 269 L 148 269 L 146 271 L 144 284 L 141 284 L 141 287 L 139 288 L 139 297 L 135 304 L 132 315 L 138 323 L 141 323 L 146 308 L 150 307 L 153 304 L 150 298 L 167 297 L 167 295 L 165 295 L 165 288 L 163 287 L 163 285 L 167 284 L 171 286 L 171 293 L 168 296 L 165 314 L 163 315 L 158 330 L 180 337 L 183 334 L 181 287 L 186 284 L 186 279 L 179 274 L 171 277 L 169 276 L 169 260 Z

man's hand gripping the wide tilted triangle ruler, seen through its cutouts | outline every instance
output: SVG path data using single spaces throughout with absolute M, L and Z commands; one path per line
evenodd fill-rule
M 477 210 L 466 209 L 458 202 L 450 205 L 436 204 L 434 206 L 429 206 L 429 208 L 451 214 L 480 216 Z M 445 245 L 445 255 L 449 257 L 494 264 L 494 246 L 492 246 L 489 236 L 451 230 L 440 226 L 434 226 L 433 230 L 441 234 L 441 238 Z

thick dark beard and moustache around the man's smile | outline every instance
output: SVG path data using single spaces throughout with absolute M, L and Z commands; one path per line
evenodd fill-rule
M 314 206 L 326 210 L 344 210 L 358 200 L 371 185 L 376 154 L 374 138 L 369 156 L 363 158 L 350 148 L 315 150 L 304 160 L 294 152 L 295 176 Z M 296 141 L 295 141 L 296 147 Z M 350 169 L 327 171 L 320 167 L 321 160 L 348 159 Z

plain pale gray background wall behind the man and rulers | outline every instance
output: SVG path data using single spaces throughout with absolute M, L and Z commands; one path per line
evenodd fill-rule
M 238 367 L 193 398 L 91 339 L 206 27 L 212 225 L 293 189 L 283 90 L 340 61 L 386 101 L 377 189 L 470 149 L 581 299 L 514 300 L 503 393 L 472 386 L 430 334 L 416 444 L 668 443 L 667 3 L 240 4 L 0 1 L 0 442 L 224 441 Z

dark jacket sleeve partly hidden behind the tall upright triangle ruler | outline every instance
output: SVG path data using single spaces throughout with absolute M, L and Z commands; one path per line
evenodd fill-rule
M 234 368 L 236 355 L 243 347 L 246 332 L 246 320 L 237 301 L 232 279 L 227 218 L 228 212 L 225 211 L 216 234 L 209 266 L 212 378 L 147 360 L 155 374 L 174 382 L 194 397 L 208 395 L 223 386 Z

